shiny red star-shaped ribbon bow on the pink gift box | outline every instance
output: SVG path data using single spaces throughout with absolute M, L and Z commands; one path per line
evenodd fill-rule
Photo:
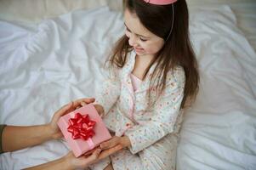
M 94 136 L 95 124 L 96 122 L 89 119 L 88 114 L 82 116 L 80 113 L 76 113 L 74 118 L 69 119 L 67 131 L 72 133 L 72 139 L 87 140 Z

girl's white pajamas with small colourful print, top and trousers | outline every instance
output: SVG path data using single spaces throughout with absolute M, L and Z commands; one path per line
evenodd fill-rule
M 156 82 L 150 84 L 151 69 L 136 91 L 131 80 L 134 51 L 122 69 L 112 68 L 96 103 L 105 109 L 106 126 L 117 136 L 126 135 L 131 147 L 111 156 L 117 169 L 174 169 L 179 127 L 180 104 L 184 96 L 185 72 L 177 66 L 168 72 L 167 84 L 157 98 Z M 148 93 L 151 98 L 148 99 Z

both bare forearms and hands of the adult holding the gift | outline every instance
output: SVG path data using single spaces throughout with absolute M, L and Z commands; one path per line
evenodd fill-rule
M 94 99 L 77 99 L 68 105 L 64 105 L 59 111 L 54 113 L 51 122 L 47 124 L 23 127 L 1 125 L 1 153 L 24 149 L 36 144 L 42 144 L 50 139 L 60 139 L 62 137 L 62 133 L 57 125 L 60 116 L 74 111 L 77 108 L 82 107 L 82 105 L 87 105 L 92 102 L 94 102 Z M 69 152 L 66 156 L 63 156 L 60 159 L 43 163 L 36 167 L 30 167 L 28 169 L 65 170 L 88 167 L 88 165 L 94 163 L 95 161 L 99 161 L 100 159 L 103 159 L 120 149 L 121 147 L 118 145 L 110 150 L 101 151 L 100 149 L 97 149 L 88 156 L 80 156 L 78 158 L 75 157 L 72 152 Z

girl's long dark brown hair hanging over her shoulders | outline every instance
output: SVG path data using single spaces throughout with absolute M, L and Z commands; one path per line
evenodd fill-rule
M 181 108 L 184 108 L 186 100 L 196 99 L 199 83 L 196 57 L 189 37 L 189 14 L 185 0 L 178 0 L 169 5 L 154 5 L 145 3 L 143 0 L 125 0 L 124 3 L 129 12 L 139 17 L 139 21 L 145 28 L 165 40 L 162 49 L 145 70 L 144 79 L 151 65 L 156 63 L 151 82 L 153 77 L 161 77 L 160 79 L 156 78 L 157 91 L 158 94 L 161 94 L 166 88 L 168 71 L 172 71 L 177 65 L 182 66 L 185 70 L 185 92 Z M 173 20 L 172 5 L 174 5 L 174 26 L 168 37 Z M 122 68 L 127 61 L 128 52 L 132 49 L 128 44 L 128 37 L 125 35 L 121 37 L 112 51 L 111 65 Z

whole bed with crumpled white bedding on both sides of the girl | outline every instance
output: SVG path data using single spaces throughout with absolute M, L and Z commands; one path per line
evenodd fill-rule
M 9 7 L 0 10 L 0 123 L 47 123 L 61 105 L 93 97 L 105 77 L 102 64 L 124 32 L 122 5 L 114 10 L 95 1 L 100 5 L 27 18 L 7 2 L 0 3 Z M 23 8 L 32 5 L 27 2 Z M 188 4 L 201 82 L 195 105 L 185 111 L 177 169 L 254 170 L 256 2 Z M 2 154 L 0 169 L 31 167 L 67 151 L 64 140 L 48 141 Z

